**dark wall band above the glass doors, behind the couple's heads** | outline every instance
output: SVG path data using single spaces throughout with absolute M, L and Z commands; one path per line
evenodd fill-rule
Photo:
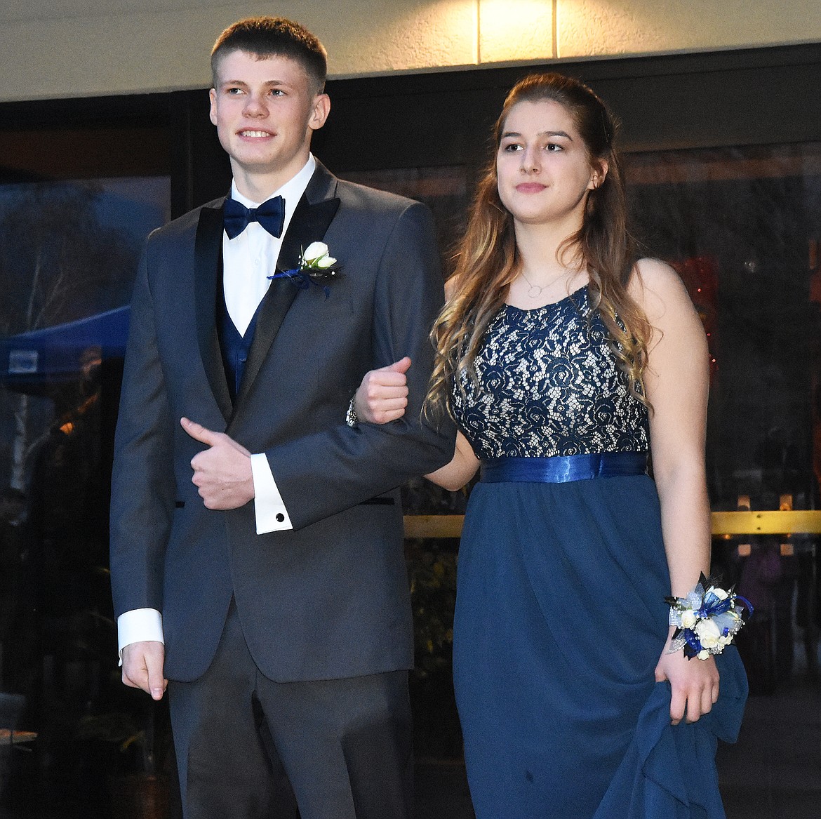
M 628 151 L 821 138 L 821 44 L 807 44 L 330 81 L 315 153 L 337 173 L 475 167 L 530 71 L 589 83 L 621 117 Z M 166 173 L 181 214 L 230 179 L 208 105 L 207 90 L 0 104 L 0 181 Z

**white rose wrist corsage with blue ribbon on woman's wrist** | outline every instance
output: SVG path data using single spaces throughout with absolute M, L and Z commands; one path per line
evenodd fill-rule
M 686 597 L 665 597 L 670 604 L 670 625 L 676 627 L 670 654 L 684 649 L 688 660 L 706 660 L 721 654 L 744 625 L 742 614 L 753 613 L 749 600 L 718 586 L 715 577 L 699 577 L 698 585 Z M 739 602 L 741 601 L 741 602 Z

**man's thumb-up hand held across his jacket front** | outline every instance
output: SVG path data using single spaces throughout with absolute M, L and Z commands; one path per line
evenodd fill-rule
M 191 482 L 209 509 L 237 509 L 254 499 L 251 454 L 224 432 L 206 430 L 202 424 L 181 418 L 184 430 L 209 449 L 191 458 Z

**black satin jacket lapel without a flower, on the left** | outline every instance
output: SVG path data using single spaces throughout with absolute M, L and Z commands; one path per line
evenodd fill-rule
M 197 343 L 214 398 L 227 421 L 233 412 L 217 338 L 217 288 L 222 287 L 222 210 L 203 208 L 194 245 Z

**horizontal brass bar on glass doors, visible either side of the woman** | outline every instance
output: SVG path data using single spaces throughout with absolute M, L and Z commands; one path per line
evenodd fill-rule
M 713 512 L 713 535 L 821 535 L 821 511 Z M 459 537 L 464 515 L 406 515 L 405 536 Z

